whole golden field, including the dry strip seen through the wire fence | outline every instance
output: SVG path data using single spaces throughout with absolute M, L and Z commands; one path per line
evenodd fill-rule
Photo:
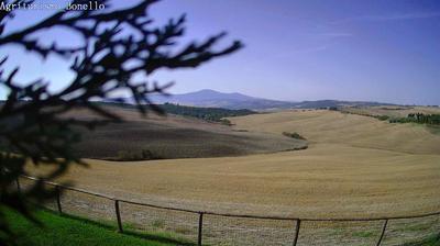
M 408 216 L 440 211 L 440 136 L 333 111 L 284 111 L 230 119 L 232 131 L 296 132 L 308 149 L 239 157 L 114 163 L 88 159 L 62 180 L 155 205 L 301 219 Z M 248 131 L 248 132 L 244 132 Z M 110 202 L 110 203 L 109 203 Z M 67 192 L 66 211 L 114 221 L 111 200 Z M 53 204 L 52 204 L 53 205 Z M 121 203 L 129 227 L 172 232 L 197 242 L 198 214 Z M 382 245 L 438 232 L 439 215 L 391 220 Z M 298 245 L 376 245 L 384 221 L 304 221 Z M 292 245 L 295 221 L 206 214 L 204 243 Z

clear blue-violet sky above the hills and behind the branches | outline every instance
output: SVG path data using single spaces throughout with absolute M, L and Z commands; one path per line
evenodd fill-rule
M 20 11 L 6 32 L 50 13 Z M 180 44 L 227 31 L 218 47 L 234 40 L 245 47 L 196 69 L 154 74 L 158 82 L 175 81 L 172 93 L 213 89 L 287 101 L 440 104 L 440 1 L 164 0 L 150 10 L 158 25 L 183 13 L 187 29 Z M 64 30 L 44 35 L 79 41 Z M 21 81 L 44 77 L 56 90 L 72 78 L 69 63 L 58 57 L 42 60 L 14 46 L 0 48 L 4 55 L 6 70 L 20 65 Z M 0 88 L 1 99 L 6 93 Z

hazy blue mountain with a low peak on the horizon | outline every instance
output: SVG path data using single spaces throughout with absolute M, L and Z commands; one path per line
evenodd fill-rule
M 295 102 L 254 98 L 237 92 L 223 93 L 215 90 L 200 90 L 183 94 L 173 94 L 170 97 L 155 94 L 152 96 L 151 99 L 154 103 L 170 102 L 191 107 L 211 107 L 233 110 L 288 109 L 296 104 Z

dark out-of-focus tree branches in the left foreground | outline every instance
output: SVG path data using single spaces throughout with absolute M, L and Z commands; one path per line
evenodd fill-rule
M 15 0 L 0 3 L 31 3 Z M 88 1 L 76 0 L 77 3 Z M 106 100 L 114 91 L 128 91 L 134 99 L 139 112 L 146 114 L 147 108 L 161 112 L 148 100 L 151 93 L 164 93 L 170 85 L 160 86 L 148 80 L 161 68 L 195 68 L 213 58 L 231 54 L 242 47 L 235 41 L 215 49 L 213 46 L 226 35 L 220 33 L 204 42 L 193 42 L 176 46 L 185 33 L 185 15 L 169 20 L 164 26 L 154 26 L 147 14 L 155 0 L 141 1 L 123 8 L 88 11 L 59 11 L 29 26 L 4 33 L 15 10 L 0 12 L 0 48 L 15 45 L 29 55 L 59 56 L 72 62 L 75 74 L 68 86 L 56 92 L 48 90 L 48 81 L 35 80 L 28 83 L 16 81 L 19 68 L 4 70 L 8 57 L 0 62 L 0 85 L 9 96 L 0 105 L 0 244 L 11 244 L 13 233 L 4 219 L 4 210 L 20 212 L 30 220 L 32 206 L 29 200 L 44 202 L 56 195 L 56 190 L 43 186 L 42 180 L 52 180 L 64 174 L 72 165 L 87 165 L 72 152 L 72 146 L 80 141 L 76 127 L 99 127 L 109 121 L 123 119 L 105 108 L 91 103 L 91 99 Z M 109 5 L 108 1 L 100 1 Z M 42 31 L 62 27 L 81 37 L 79 46 L 59 46 L 56 42 L 46 45 Z M 23 60 L 23 65 L 25 60 Z M 30 65 L 32 66 L 32 65 Z M 143 72 L 144 81 L 133 81 L 135 74 Z M 25 82 L 25 81 L 24 81 Z M 25 85 L 25 86 L 23 86 Z M 119 98 L 124 101 L 124 98 Z M 86 108 L 102 116 L 102 120 L 79 121 L 63 116 L 76 108 Z M 42 175 L 40 181 L 23 189 L 15 189 L 15 180 L 25 175 L 25 165 L 53 166 L 52 172 Z

